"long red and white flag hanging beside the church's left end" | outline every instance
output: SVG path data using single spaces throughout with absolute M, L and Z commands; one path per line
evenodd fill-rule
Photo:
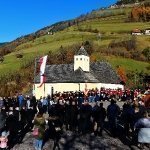
M 47 62 L 47 55 L 41 57 L 39 60 L 39 63 L 40 63 L 40 85 L 38 87 L 41 87 L 46 80 L 46 76 L 45 76 L 46 62 Z

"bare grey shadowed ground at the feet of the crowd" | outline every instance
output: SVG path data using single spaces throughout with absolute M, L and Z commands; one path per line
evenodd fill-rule
M 27 133 L 21 144 L 15 145 L 12 150 L 34 150 L 33 137 Z M 60 141 L 61 150 L 130 150 L 119 139 L 109 136 L 105 131 L 102 137 L 93 134 L 76 135 L 71 131 L 66 131 Z M 136 147 L 137 148 L 137 147 Z M 50 139 L 43 147 L 43 150 L 52 150 L 53 141 Z M 138 149 L 138 148 L 137 148 Z

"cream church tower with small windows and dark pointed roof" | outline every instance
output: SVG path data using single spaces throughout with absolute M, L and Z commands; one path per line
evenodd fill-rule
M 81 67 L 83 71 L 90 71 L 90 58 L 84 46 L 81 46 L 78 53 L 74 56 L 74 71 L 79 67 Z

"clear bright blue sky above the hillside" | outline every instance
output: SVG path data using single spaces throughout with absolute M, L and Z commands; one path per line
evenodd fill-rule
M 58 21 L 107 7 L 117 0 L 0 0 L 0 42 L 9 42 Z

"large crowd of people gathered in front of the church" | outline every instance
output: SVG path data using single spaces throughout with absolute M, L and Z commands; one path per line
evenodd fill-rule
M 131 144 L 149 146 L 150 111 L 145 108 L 141 93 L 101 89 L 86 94 L 57 92 L 39 100 L 22 94 L 0 98 L 0 148 L 11 149 L 22 142 L 27 132 L 32 132 L 36 150 L 42 150 L 49 138 L 54 141 L 53 149 L 60 149 L 59 139 L 64 130 L 103 136 L 104 129 L 114 137 L 119 136 L 120 130 L 122 136 L 132 139 Z M 110 101 L 106 108 L 105 101 Z M 124 102 L 122 107 L 118 101 Z

